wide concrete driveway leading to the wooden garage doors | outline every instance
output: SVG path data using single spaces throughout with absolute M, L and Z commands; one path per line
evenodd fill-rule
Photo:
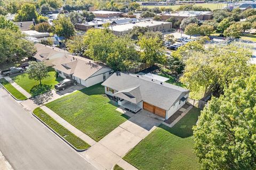
M 98 164 L 99 169 L 111 169 L 163 122 L 163 118 L 145 110 L 129 115 L 133 116 L 83 153 L 86 160 Z

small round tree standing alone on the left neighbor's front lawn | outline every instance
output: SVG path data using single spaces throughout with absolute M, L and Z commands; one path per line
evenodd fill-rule
M 43 62 L 30 62 L 26 73 L 29 79 L 38 80 L 40 86 L 42 86 L 42 80 L 48 76 L 47 67 Z

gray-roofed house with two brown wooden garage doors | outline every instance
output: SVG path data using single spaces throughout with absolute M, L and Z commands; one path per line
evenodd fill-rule
M 102 86 L 105 86 L 107 95 L 118 101 L 118 105 L 135 113 L 145 109 L 165 119 L 185 105 L 189 95 L 185 88 L 121 72 L 112 74 Z

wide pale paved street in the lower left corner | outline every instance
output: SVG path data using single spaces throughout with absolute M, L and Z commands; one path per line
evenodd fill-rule
M 95 169 L 0 88 L 0 150 L 14 169 Z

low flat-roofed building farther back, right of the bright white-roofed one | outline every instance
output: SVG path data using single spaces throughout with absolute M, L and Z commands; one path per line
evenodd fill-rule
M 179 11 L 174 13 L 165 13 L 162 14 L 162 20 L 165 21 L 171 17 L 175 20 L 183 20 L 185 18 L 195 16 L 198 20 L 211 20 L 213 12 L 211 11 Z

